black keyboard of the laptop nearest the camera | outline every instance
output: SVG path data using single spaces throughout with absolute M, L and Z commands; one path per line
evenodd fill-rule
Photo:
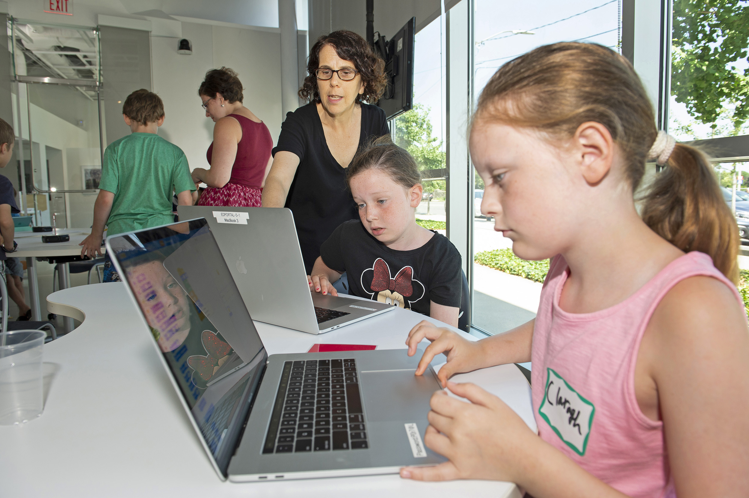
M 357 363 L 284 363 L 263 453 L 367 449 Z

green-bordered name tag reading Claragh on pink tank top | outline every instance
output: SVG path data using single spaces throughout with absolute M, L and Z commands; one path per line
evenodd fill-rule
M 546 369 L 546 390 L 539 415 L 577 455 L 585 455 L 595 406 L 580 396 L 561 375 Z

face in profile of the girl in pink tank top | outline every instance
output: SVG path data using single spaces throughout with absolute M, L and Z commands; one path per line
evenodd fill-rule
M 583 200 L 562 149 L 532 131 L 479 120 L 470 153 L 485 183 L 481 212 L 494 216 L 515 254 L 545 259 L 571 243 Z

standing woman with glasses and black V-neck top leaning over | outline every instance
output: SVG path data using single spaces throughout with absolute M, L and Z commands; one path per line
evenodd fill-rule
M 319 37 L 299 90 L 309 104 L 286 114 L 281 126 L 263 206 L 294 213 L 307 274 L 333 230 L 359 219 L 346 187 L 346 167 L 370 138 L 390 132 L 385 112 L 365 103 L 377 102 L 385 90 L 384 67 L 352 31 Z

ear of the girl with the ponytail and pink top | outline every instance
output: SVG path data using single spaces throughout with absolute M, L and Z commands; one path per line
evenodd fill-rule
M 577 127 L 572 138 L 574 157 L 589 185 L 598 185 L 613 164 L 613 138 L 606 126 L 588 121 Z

